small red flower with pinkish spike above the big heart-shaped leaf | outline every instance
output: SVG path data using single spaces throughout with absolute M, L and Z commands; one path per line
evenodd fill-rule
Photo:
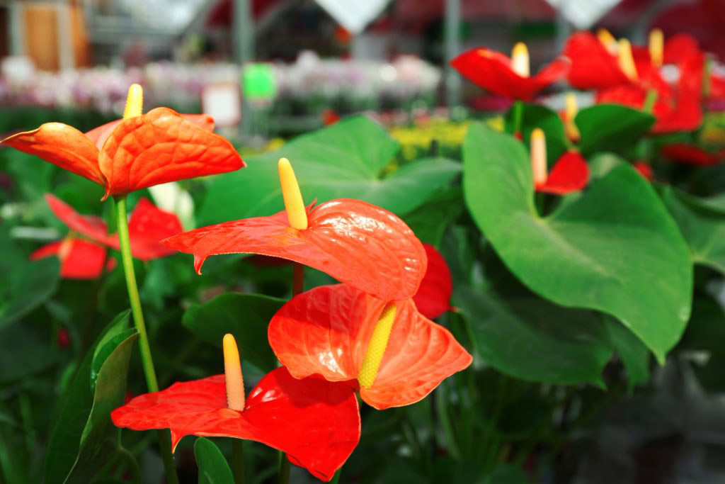
M 546 139 L 541 128 L 531 131 L 531 170 L 537 192 L 566 195 L 580 192 L 589 181 L 589 166 L 579 152 L 564 153 L 547 173 Z

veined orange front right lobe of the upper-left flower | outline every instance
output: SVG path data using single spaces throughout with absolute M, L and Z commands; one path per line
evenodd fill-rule
M 121 121 L 99 157 L 106 197 L 244 166 L 229 141 L 165 107 Z

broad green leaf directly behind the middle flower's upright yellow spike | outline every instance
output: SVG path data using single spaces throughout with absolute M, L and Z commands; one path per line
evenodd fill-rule
M 354 198 L 398 215 L 410 212 L 460 173 L 460 163 L 429 158 L 386 173 L 398 150 L 385 129 L 364 116 L 349 118 L 249 157 L 247 168 L 220 176 L 209 189 L 199 224 L 269 216 L 283 210 L 277 161 L 294 166 L 305 202 Z

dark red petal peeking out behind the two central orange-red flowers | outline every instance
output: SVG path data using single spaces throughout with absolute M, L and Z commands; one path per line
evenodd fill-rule
M 451 271 L 443 256 L 430 244 L 423 244 L 428 256 L 428 268 L 421 287 L 413 296 L 418 311 L 428 319 L 436 319 L 450 308 L 453 292 Z

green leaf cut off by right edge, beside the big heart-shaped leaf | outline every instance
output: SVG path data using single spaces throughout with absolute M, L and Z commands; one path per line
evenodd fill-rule
M 669 186 L 662 197 L 687 239 L 692 260 L 725 274 L 725 209 Z

